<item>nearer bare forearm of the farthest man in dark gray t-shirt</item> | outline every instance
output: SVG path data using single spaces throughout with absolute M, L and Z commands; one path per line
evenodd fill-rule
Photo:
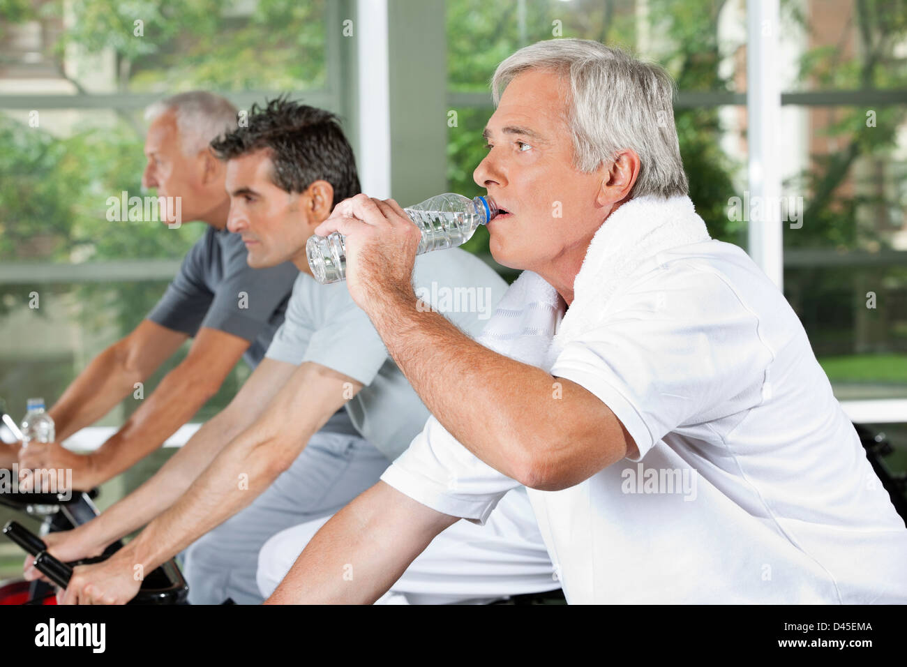
M 147 456 L 217 391 L 213 382 L 200 382 L 198 369 L 180 365 L 171 370 L 130 417 L 94 454 L 95 476 L 106 481 Z

